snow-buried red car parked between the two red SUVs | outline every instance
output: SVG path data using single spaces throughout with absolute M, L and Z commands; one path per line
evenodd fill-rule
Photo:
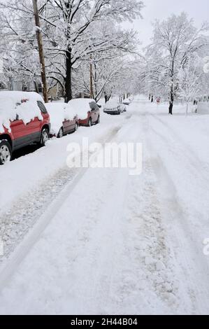
M 72 106 L 66 103 L 45 104 L 50 114 L 50 135 L 61 138 L 79 127 L 79 119 Z

